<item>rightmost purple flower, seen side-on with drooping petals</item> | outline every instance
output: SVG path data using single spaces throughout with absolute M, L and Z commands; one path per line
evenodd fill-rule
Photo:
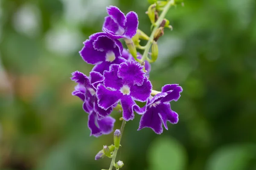
M 163 132 L 163 125 L 168 130 L 167 121 L 172 124 L 178 122 L 178 114 L 172 111 L 169 102 L 177 101 L 180 98 L 182 88 L 177 84 L 165 85 L 162 88 L 162 93 L 150 97 L 147 104 L 144 106 L 144 114 L 140 119 L 140 126 L 138 130 L 144 127 L 150 127 L 155 133 L 161 134 Z

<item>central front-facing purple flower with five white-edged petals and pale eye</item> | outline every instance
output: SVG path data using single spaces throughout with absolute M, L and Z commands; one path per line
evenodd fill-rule
M 141 113 L 134 100 L 145 102 L 152 89 L 143 66 L 136 61 L 113 64 L 103 75 L 104 85 L 99 84 L 96 91 L 99 107 L 107 110 L 120 101 L 123 118 L 126 121 L 134 119 L 134 111 Z

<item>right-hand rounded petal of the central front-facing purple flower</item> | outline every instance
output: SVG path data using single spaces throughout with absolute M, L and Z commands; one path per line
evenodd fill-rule
M 130 88 L 130 95 L 133 99 L 145 102 L 151 94 L 152 85 L 149 79 L 144 79 L 143 85 L 132 85 Z

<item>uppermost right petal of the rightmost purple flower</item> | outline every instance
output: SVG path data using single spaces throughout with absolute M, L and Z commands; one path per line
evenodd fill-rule
M 171 102 L 172 100 L 177 102 L 177 100 L 180 98 L 182 88 L 178 86 L 178 84 L 164 85 L 162 92 L 166 92 L 168 95 L 164 97 L 161 102 Z

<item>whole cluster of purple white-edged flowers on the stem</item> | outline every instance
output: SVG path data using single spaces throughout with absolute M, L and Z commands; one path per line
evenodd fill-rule
M 72 94 L 83 101 L 93 136 L 113 131 L 115 119 L 110 114 L 118 105 L 122 106 L 125 121 L 133 120 L 134 112 L 142 115 L 138 130 L 150 127 L 160 134 L 162 125 L 168 129 L 167 121 L 178 122 L 170 102 L 179 99 L 182 88 L 177 84 L 165 85 L 161 92 L 151 96 L 150 63 L 135 61 L 118 40 L 131 39 L 137 33 L 137 14 L 131 11 L 125 15 L 115 6 L 108 7 L 107 12 L 103 32 L 91 35 L 79 51 L 82 59 L 94 67 L 89 76 L 79 71 L 72 73 L 71 79 L 77 83 Z M 137 53 L 137 59 L 142 59 L 141 54 Z M 136 101 L 146 104 L 140 108 Z

